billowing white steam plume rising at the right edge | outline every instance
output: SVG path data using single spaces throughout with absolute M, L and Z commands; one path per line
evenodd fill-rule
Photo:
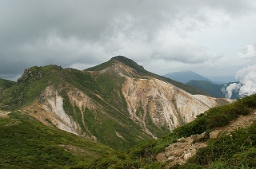
M 238 70 L 235 78 L 239 80 L 239 83 L 226 87 L 226 98 L 231 98 L 233 91 L 239 91 L 239 96 L 249 96 L 256 92 L 256 65 Z

